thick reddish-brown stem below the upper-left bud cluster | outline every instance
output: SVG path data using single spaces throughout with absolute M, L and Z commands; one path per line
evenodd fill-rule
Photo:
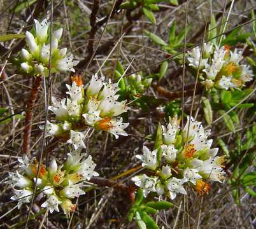
M 30 155 L 30 141 L 31 141 L 31 128 L 32 128 L 32 118 L 33 118 L 33 109 L 36 102 L 36 97 L 38 95 L 38 90 L 41 84 L 41 76 L 36 77 L 34 80 L 29 101 L 27 101 L 27 109 L 25 111 L 25 129 L 23 135 L 23 144 L 22 149 L 26 155 Z

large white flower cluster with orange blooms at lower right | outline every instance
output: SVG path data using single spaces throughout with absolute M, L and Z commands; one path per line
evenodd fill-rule
M 143 155 L 136 155 L 152 174 L 132 178 L 143 189 L 144 197 L 150 192 L 166 193 L 173 200 L 177 193 L 187 194 L 185 183 L 191 183 L 200 194 L 208 193 L 210 185 L 204 179 L 224 179 L 224 156 L 216 156 L 218 148 L 211 149 L 210 130 L 204 130 L 192 117 L 189 127 L 188 123 L 189 118 L 182 132 L 177 116 L 170 119 L 167 127 L 162 126 L 163 144 L 153 151 L 143 146 Z

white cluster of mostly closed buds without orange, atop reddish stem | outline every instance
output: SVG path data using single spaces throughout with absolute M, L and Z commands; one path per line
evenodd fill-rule
M 78 64 L 78 61 L 73 60 L 73 55 L 67 56 L 67 48 L 58 48 L 58 43 L 62 35 L 63 29 L 57 29 L 52 33 L 52 39 L 50 39 L 50 32 L 48 31 L 50 22 L 44 19 L 42 22 L 34 20 L 34 31 L 25 32 L 25 41 L 28 46 L 28 50 L 22 48 L 20 53 L 21 71 L 28 74 L 42 74 L 47 73 L 48 64 L 50 58 L 50 44 L 52 52 L 51 71 L 65 72 L 73 71 L 73 68 Z

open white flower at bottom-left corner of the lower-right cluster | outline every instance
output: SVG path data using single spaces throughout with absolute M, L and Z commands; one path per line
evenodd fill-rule
M 151 191 L 156 191 L 157 177 L 148 177 L 146 174 L 132 177 L 132 181 L 142 188 L 143 196 L 146 197 Z

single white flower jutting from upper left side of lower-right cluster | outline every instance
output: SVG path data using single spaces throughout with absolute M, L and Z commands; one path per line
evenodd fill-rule
M 156 169 L 157 162 L 157 149 L 150 151 L 146 146 L 143 146 L 143 155 L 136 155 L 136 158 L 141 160 L 142 166 L 148 169 Z

